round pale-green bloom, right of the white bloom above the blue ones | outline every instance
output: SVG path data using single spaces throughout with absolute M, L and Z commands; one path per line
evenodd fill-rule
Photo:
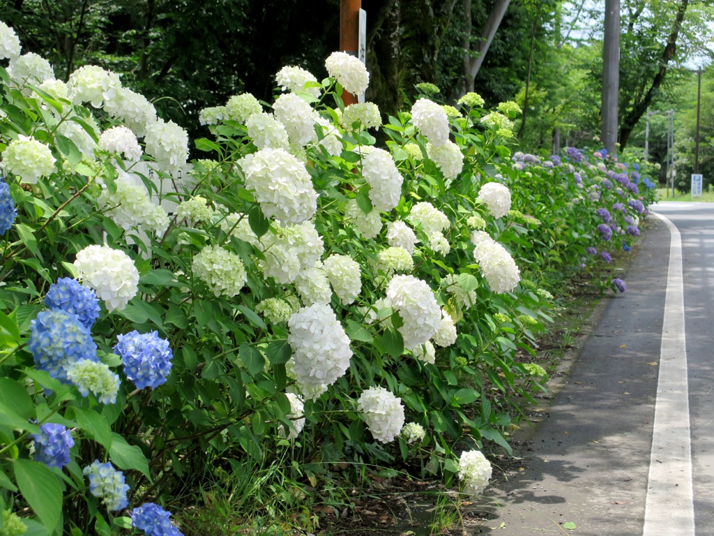
M 246 286 L 246 267 L 235 253 L 220 246 L 206 246 L 201 249 L 191 264 L 193 274 L 208 285 L 208 289 L 218 296 L 232 298 Z

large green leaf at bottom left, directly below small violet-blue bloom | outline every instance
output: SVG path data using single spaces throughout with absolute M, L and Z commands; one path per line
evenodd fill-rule
M 62 489 L 57 477 L 44 464 L 15 460 L 15 478 L 23 497 L 50 532 L 62 513 Z

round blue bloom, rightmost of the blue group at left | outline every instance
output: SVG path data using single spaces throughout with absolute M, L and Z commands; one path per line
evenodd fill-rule
M 124 362 L 124 374 L 137 389 L 156 389 L 171 372 L 171 347 L 157 332 L 140 334 L 136 330 L 119 335 L 114 352 Z

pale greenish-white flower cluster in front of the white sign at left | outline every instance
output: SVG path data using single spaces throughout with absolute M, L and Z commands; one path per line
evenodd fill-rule
M 151 202 L 143 184 L 133 184 L 128 177 L 120 176 L 114 185 L 116 190 L 113 194 L 104 187 L 97 197 L 99 207 L 106 210 L 106 215 L 114 223 L 125 231 L 137 227 L 157 236 L 166 232 L 170 223 L 169 214 Z

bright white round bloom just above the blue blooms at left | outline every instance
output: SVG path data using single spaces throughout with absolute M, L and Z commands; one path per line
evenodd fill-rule
M 85 287 L 94 289 L 106 310 L 121 311 L 139 292 L 139 270 L 131 257 L 109 246 L 87 246 L 76 254 L 74 267 Z

